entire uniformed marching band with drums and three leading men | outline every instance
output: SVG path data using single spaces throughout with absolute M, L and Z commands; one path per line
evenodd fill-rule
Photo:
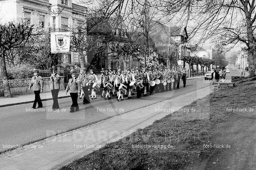
M 178 70 L 178 69 L 177 69 Z M 38 103 L 38 107 L 42 107 L 42 102 L 39 96 L 39 93 L 42 92 L 43 83 L 41 80 L 41 76 L 38 76 L 38 70 L 34 69 L 34 76 L 31 79 L 31 83 L 29 86 L 33 86 L 35 91 L 35 102 L 33 104 L 33 108 Z M 101 69 L 101 75 L 99 79 L 97 75 L 94 74 L 94 70 L 90 70 L 87 72 L 87 68 L 83 68 L 80 71 L 78 78 L 76 78 L 76 71 L 71 70 L 72 78 L 69 79 L 66 94 L 70 91 L 70 96 L 72 99 L 72 105 L 70 107 L 70 112 L 75 112 L 79 110 L 78 106 L 78 97 L 82 99 L 82 95 L 84 94 L 83 104 L 90 103 L 90 98 L 88 91 L 91 90 L 91 100 L 97 99 L 96 92 L 102 90 L 101 98 L 105 100 L 110 100 L 110 94 L 112 97 L 116 96 L 117 101 L 124 100 L 124 97 L 127 99 L 131 99 L 134 91 L 136 90 L 137 98 L 140 98 L 142 93 L 143 96 L 153 95 L 153 92 L 159 93 L 164 91 L 172 90 L 179 88 L 180 79 L 183 81 L 183 87 L 186 86 L 188 72 L 185 68 L 182 71 L 176 71 L 175 68 L 165 67 L 164 70 L 159 70 L 158 67 L 154 68 L 142 68 L 136 67 L 125 68 L 123 71 L 119 66 L 116 70 L 105 70 L 105 68 Z M 57 68 L 52 67 L 52 75 L 50 77 L 51 80 L 51 90 L 53 97 L 53 108 L 59 108 L 58 103 L 58 93 L 60 88 L 60 78 L 59 74 L 57 74 Z M 176 85 L 177 84 L 177 85 Z M 121 99 L 120 99 L 121 98 Z

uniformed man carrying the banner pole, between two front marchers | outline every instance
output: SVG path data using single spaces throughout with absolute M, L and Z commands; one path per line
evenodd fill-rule
M 52 66 L 52 75 L 50 76 L 50 89 L 52 92 L 53 109 L 59 108 L 58 94 L 60 90 L 60 75 L 57 74 L 57 68 Z

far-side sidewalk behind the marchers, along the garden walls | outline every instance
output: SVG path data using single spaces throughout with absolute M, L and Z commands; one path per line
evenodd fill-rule
M 187 78 L 187 80 L 192 80 L 192 79 L 199 79 L 203 78 L 204 76 L 197 76 L 197 77 L 190 77 Z M 182 80 L 181 80 L 182 81 Z M 65 90 L 59 91 L 59 99 L 60 98 L 68 98 L 69 92 L 66 95 Z M 40 94 L 40 97 L 42 101 L 46 100 L 52 100 L 52 93 L 51 92 L 44 92 Z M 13 105 L 18 105 L 18 104 L 26 104 L 26 103 L 33 103 L 35 99 L 34 94 L 25 94 L 25 95 L 15 95 L 12 96 L 11 98 L 0 98 L 0 107 L 7 107 L 7 106 L 13 106 Z

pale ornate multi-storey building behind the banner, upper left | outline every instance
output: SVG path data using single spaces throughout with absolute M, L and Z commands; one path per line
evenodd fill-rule
M 59 11 L 60 10 L 60 11 Z M 72 0 L 1 0 L 0 23 L 24 17 L 30 24 L 41 24 L 42 28 L 65 29 L 86 21 L 87 8 L 72 3 Z M 74 65 L 79 54 L 63 54 L 65 65 Z

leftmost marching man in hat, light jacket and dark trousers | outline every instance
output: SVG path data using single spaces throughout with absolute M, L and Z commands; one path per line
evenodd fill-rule
M 43 91 L 44 88 L 44 81 L 41 76 L 38 75 L 38 70 L 34 69 L 33 73 L 34 76 L 31 78 L 31 82 L 29 83 L 29 90 L 33 86 L 34 94 L 35 94 L 35 100 L 32 108 L 35 109 L 38 103 L 38 108 L 43 107 L 42 100 L 40 98 L 40 92 Z

